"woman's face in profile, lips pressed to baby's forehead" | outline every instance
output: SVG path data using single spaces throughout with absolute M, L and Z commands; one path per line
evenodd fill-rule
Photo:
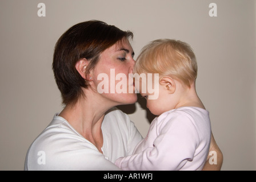
M 129 40 L 123 39 L 102 52 L 92 73 L 93 87 L 115 105 L 137 101 L 134 90 L 134 52 Z

